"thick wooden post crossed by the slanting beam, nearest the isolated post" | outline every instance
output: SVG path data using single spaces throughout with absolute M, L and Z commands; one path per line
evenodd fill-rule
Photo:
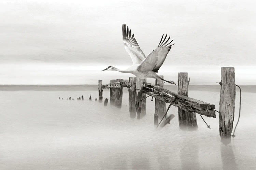
M 178 73 L 178 94 L 188 96 L 188 73 Z M 180 129 L 196 130 L 196 113 L 186 112 L 178 108 Z

